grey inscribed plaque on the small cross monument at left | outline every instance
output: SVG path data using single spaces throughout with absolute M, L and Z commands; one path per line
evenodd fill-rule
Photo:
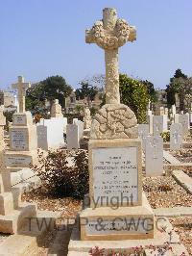
M 27 150 L 27 133 L 26 131 L 12 131 L 12 149 Z

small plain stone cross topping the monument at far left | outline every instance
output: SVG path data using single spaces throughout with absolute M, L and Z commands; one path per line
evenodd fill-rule
M 24 77 L 18 76 L 18 83 L 12 84 L 12 89 L 18 90 L 18 112 L 25 112 L 25 94 L 26 90 L 31 87 L 30 83 L 24 83 Z

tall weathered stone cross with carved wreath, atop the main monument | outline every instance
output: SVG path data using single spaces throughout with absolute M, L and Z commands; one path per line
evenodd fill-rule
M 103 10 L 103 19 L 96 21 L 85 32 L 87 43 L 96 43 L 105 50 L 106 61 L 106 104 L 119 104 L 118 49 L 127 41 L 136 39 L 136 30 L 125 19 L 117 18 L 112 8 Z

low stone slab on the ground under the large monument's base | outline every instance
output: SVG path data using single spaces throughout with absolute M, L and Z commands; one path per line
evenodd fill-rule
M 163 231 L 165 226 L 166 231 Z M 170 231 L 172 232 L 171 240 L 169 235 Z M 99 248 L 104 248 L 105 252 L 108 253 L 111 252 L 111 250 L 115 252 L 133 253 L 132 248 L 136 246 L 140 247 L 141 245 L 144 249 L 149 248 L 151 244 L 154 246 L 163 246 L 167 242 L 169 242 L 170 246 L 172 247 L 176 244 L 180 245 L 180 238 L 178 234 L 176 234 L 176 232 L 173 230 L 173 226 L 167 218 L 156 219 L 154 238 L 120 241 L 118 241 L 117 238 L 114 238 L 113 241 L 81 241 L 80 236 L 80 230 L 74 228 L 68 245 L 68 256 L 89 255 L 88 251 L 96 246 Z M 181 253 L 174 255 L 181 255 Z M 188 254 L 186 253 L 185 255 Z

